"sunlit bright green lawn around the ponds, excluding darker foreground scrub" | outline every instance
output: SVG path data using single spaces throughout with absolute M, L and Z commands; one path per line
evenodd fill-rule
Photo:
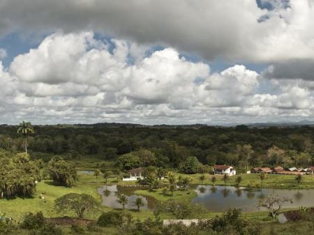
M 178 176 L 179 174 L 176 173 Z M 200 184 L 200 174 L 181 174 L 181 176 L 188 176 L 192 178 L 191 183 L 198 183 Z M 205 174 L 206 180 L 204 184 L 211 184 L 211 175 Z M 249 183 L 251 185 L 259 186 L 260 179 L 258 179 L 257 174 L 241 174 L 243 181 L 241 182 L 241 186 L 246 186 Z M 237 176 L 232 176 L 227 181 L 227 185 L 234 185 L 234 179 Z M 216 176 L 217 181 L 216 185 L 223 185 L 222 177 Z M 24 213 L 29 211 L 36 212 L 36 211 L 43 211 L 46 217 L 57 217 L 57 216 L 75 216 L 73 213 L 66 213 L 66 214 L 58 214 L 54 210 L 54 200 L 62 195 L 65 195 L 69 192 L 77 192 L 77 193 L 87 193 L 92 195 L 98 202 L 100 202 L 101 198 L 100 195 L 97 193 L 97 188 L 100 185 L 104 184 L 104 179 L 101 176 L 93 175 L 85 175 L 82 174 L 79 176 L 79 180 L 72 188 L 66 188 L 63 186 L 53 185 L 52 181 L 42 181 L 38 183 L 36 195 L 33 198 L 26 198 L 22 199 L 17 197 L 15 199 L 0 199 L 0 213 L 6 213 L 6 215 L 15 218 L 16 220 L 21 220 Z M 136 181 L 117 181 L 117 178 L 110 178 L 108 179 L 108 183 L 118 183 L 118 184 L 135 184 Z M 297 188 L 297 183 L 294 180 L 294 176 L 281 176 L 275 174 L 267 175 L 267 178 L 264 179 L 263 187 L 267 188 Z M 300 184 L 300 188 L 314 188 L 314 177 L 311 176 L 304 176 L 302 183 Z M 39 195 L 45 192 L 45 200 L 39 199 Z M 159 201 L 165 201 L 167 199 L 177 199 L 177 200 L 190 200 L 195 197 L 196 193 L 193 190 L 188 191 L 181 191 L 177 190 L 174 192 L 173 196 L 164 196 L 161 193 L 161 190 L 156 190 L 156 192 L 149 191 L 149 190 L 137 190 L 135 193 L 138 195 L 148 195 L 151 197 L 156 198 Z M 88 213 L 87 218 L 96 219 L 100 215 L 102 211 L 112 210 L 105 206 L 100 207 L 100 211 L 96 213 Z M 144 219 L 150 216 L 154 216 L 152 211 L 130 211 L 135 218 Z M 215 215 L 215 213 L 210 213 L 209 216 Z M 247 214 L 249 216 L 249 214 Z M 163 215 L 163 218 L 169 218 L 169 215 Z M 255 218 L 255 215 L 252 216 Z

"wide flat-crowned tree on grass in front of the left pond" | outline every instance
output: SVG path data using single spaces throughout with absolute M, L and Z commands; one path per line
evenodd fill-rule
M 98 203 L 91 195 L 72 192 L 57 198 L 54 201 L 54 207 L 59 213 L 63 211 L 73 211 L 77 214 L 78 218 L 83 218 L 84 213 L 96 209 Z

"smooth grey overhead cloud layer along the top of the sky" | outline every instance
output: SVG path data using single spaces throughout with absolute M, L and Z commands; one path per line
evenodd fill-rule
M 209 61 L 314 58 L 314 1 L 1 0 L 0 35 L 95 31 Z

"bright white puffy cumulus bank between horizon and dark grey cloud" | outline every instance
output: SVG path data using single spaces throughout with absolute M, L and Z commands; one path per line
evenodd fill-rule
M 313 116 L 311 80 L 265 77 L 243 65 L 211 73 L 166 47 L 52 33 L 0 66 L 0 122 L 226 123 Z M 266 73 L 266 72 L 264 72 Z M 276 77 L 276 76 L 275 76 Z

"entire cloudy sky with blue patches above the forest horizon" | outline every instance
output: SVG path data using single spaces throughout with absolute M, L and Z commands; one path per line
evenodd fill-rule
M 314 121 L 314 0 L 0 0 L 0 123 Z

